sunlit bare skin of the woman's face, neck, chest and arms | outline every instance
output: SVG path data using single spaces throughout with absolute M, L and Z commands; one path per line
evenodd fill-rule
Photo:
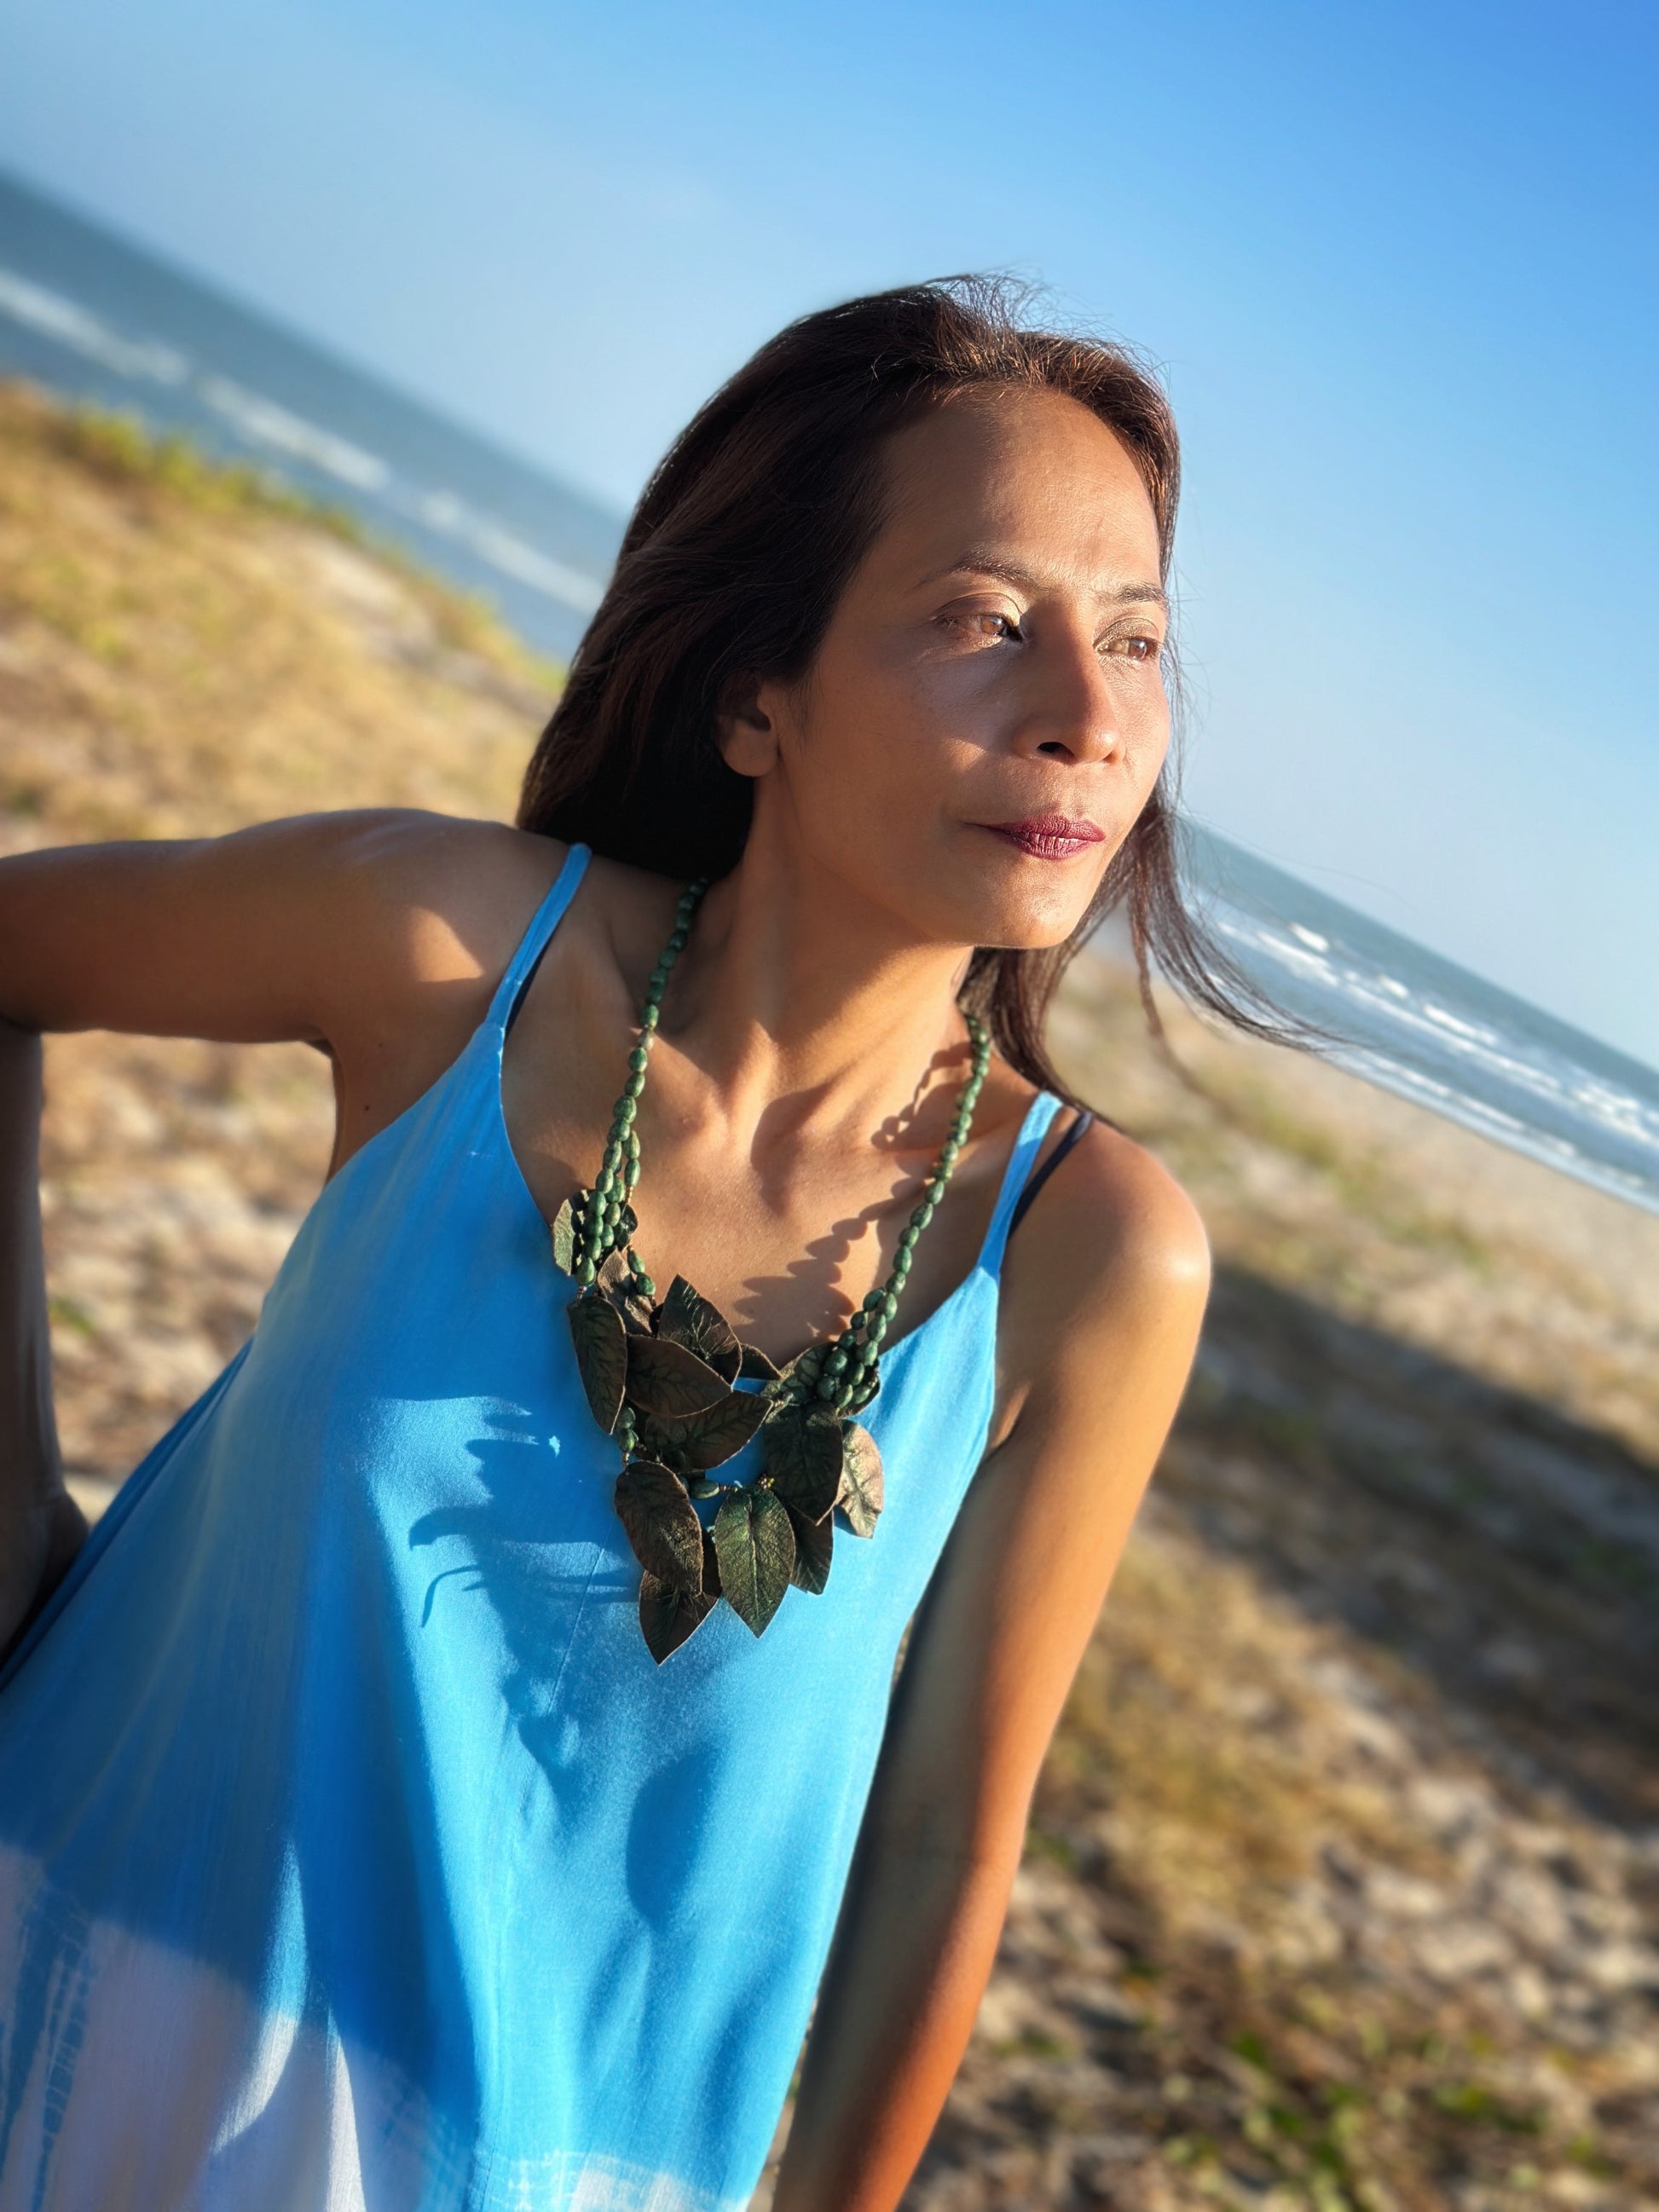
M 1168 745 L 1157 526 L 1119 440 L 1064 398 L 978 394 L 887 458 L 887 520 L 810 679 L 726 701 L 754 830 L 675 971 L 637 1124 L 641 1256 L 763 1349 L 887 1272 L 962 1079 L 971 949 L 1071 933 Z M 22 854 L 0 867 L 0 1013 L 325 1042 L 338 1166 L 476 1033 L 560 860 L 414 810 Z M 595 1172 L 677 891 L 595 860 L 522 1000 L 502 1113 L 546 1217 Z M 1029 1102 L 993 1064 L 907 1327 L 967 1276 Z M 891 2212 L 922 2150 L 1206 1287 L 1190 1201 L 1093 1128 L 1009 1252 L 991 1449 L 911 1637 L 779 2212 Z

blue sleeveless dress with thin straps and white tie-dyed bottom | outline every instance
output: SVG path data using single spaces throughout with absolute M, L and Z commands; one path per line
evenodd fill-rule
M 759 2179 L 1057 1102 L 883 1356 L 876 1535 L 657 1668 L 500 1104 L 586 858 L 0 1674 L 4 2212 L 734 2212 Z

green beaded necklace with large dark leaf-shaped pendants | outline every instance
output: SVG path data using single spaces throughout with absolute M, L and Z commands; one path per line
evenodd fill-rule
M 650 971 L 639 1042 L 611 1115 L 604 1161 L 591 1190 L 566 1199 L 553 1221 L 553 1259 L 580 1290 L 566 1307 L 575 1363 L 593 1418 L 622 1444 L 615 1504 L 635 1557 L 639 1628 L 661 1661 L 726 1604 L 759 1637 L 790 1584 L 818 1595 L 830 1579 L 834 1520 L 872 1535 L 883 1504 L 880 1451 L 854 1416 L 880 1389 L 880 1345 L 911 1270 L 916 1243 L 951 1179 L 991 1064 L 991 1035 L 967 1015 L 973 1068 L 922 1199 L 905 1225 L 887 1281 L 845 1329 L 776 1367 L 739 1343 L 726 1316 L 675 1276 L 666 1296 L 641 1267 L 628 1203 L 639 1181 L 635 1115 L 668 978 L 686 949 L 708 889 L 695 883 L 675 909 L 675 929 Z M 757 1391 L 734 1389 L 739 1380 Z M 714 1482 L 721 1467 L 761 1433 L 765 1471 L 754 1482 Z M 719 1500 L 710 1528 L 697 1502 Z

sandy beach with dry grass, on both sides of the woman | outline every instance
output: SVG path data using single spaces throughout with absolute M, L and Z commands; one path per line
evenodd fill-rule
M 0 849 L 507 816 L 555 681 L 345 526 L 0 389 Z M 907 2205 L 1659 2205 L 1659 1219 L 1166 1022 L 1091 953 L 1060 1055 L 1197 1199 L 1214 1303 Z M 51 1040 L 88 1506 L 254 1327 L 330 1133 L 303 1046 Z

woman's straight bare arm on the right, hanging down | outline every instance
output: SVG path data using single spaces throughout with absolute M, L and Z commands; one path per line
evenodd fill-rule
M 1175 1420 L 1208 1287 L 1192 1203 L 1104 1128 L 1009 1248 L 1002 1440 L 916 1617 L 774 2212 L 891 2212 L 927 2146 L 991 1973 L 1037 1770 Z

